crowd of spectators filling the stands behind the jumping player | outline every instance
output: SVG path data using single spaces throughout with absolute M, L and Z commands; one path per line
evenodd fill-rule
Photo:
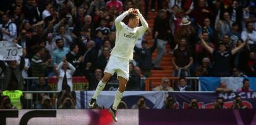
M 23 55 L 19 60 L 0 61 L 3 79 L 0 108 L 26 105 L 22 91 L 50 91 L 45 77 L 59 78 L 60 93 L 33 95 L 33 107 L 54 108 L 51 99 L 55 96 L 58 108 L 75 108 L 72 77 L 85 77 L 89 83 L 87 90 L 96 89 L 118 37 L 114 19 L 130 7 L 138 8 L 147 19 L 148 11 L 157 15 L 153 28 L 134 47 L 127 91 L 144 91 L 144 78 L 151 76 L 151 70 L 163 70 L 160 63 L 166 54 L 166 44 L 170 44 L 169 54 L 173 55 L 173 76 L 180 79 L 173 88 L 172 81 L 163 78 L 153 91 L 195 91 L 186 84 L 188 76 L 255 76 L 255 3 L 253 0 L 158 0 L 156 9 L 155 1 L 148 0 L 1 0 L 0 38 L 22 46 Z M 123 21 L 126 23 L 127 19 Z M 145 40 L 148 35 L 152 35 L 152 41 Z M 149 42 L 153 44 L 150 46 Z M 156 49 L 158 54 L 152 60 Z M 38 78 L 38 82 L 24 81 L 27 77 Z M 117 81 L 116 75 L 111 81 Z M 252 92 L 249 87 L 249 79 L 244 79 L 237 92 Z M 221 83 L 216 91 L 232 90 Z M 12 94 L 17 98 L 7 96 Z M 241 102 L 241 97 L 235 99 Z M 133 108 L 148 108 L 142 102 L 143 97 Z M 189 107 L 198 108 L 196 102 L 191 100 Z M 174 102 L 168 97 L 164 103 Z M 215 107 L 221 103 L 223 99 L 217 99 Z M 234 108 L 243 107 L 237 103 Z M 121 105 L 127 107 L 125 102 Z

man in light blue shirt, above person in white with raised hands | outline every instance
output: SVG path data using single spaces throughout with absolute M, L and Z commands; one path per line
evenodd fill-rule
M 53 56 L 52 56 L 53 62 L 52 63 L 54 65 L 54 67 L 59 65 L 59 63 L 61 63 L 62 59 L 69 52 L 69 49 L 67 47 L 64 47 L 64 43 L 63 43 L 62 39 L 56 39 L 55 43 L 56 43 L 58 49 L 53 51 Z

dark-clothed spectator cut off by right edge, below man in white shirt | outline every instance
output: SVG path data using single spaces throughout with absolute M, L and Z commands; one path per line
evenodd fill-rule
M 255 52 L 250 52 L 250 54 L 249 54 L 249 60 L 245 64 L 245 74 L 247 76 L 255 76 L 256 75 Z

